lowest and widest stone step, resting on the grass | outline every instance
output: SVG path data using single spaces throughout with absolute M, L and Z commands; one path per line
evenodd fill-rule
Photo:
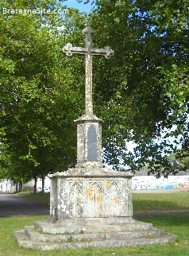
M 103 248 L 103 247 L 121 247 L 121 246 L 149 246 L 155 244 L 166 244 L 173 242 L 176 235 L 165 234 L 158 238 L 137 238 L 124 240 L 104 240 L 93 242 L 39 242 L 31 241 L 25 234 L 25 231 L 15 231 L 14 237 L 19 246 L 37 250 L 66 250 L 66 249 L 81 249 L 81 248 Z

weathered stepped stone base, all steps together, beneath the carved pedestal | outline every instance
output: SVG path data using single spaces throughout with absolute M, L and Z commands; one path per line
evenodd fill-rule
M 37 250 L 148 246 L 174 242 L 176 235 L 132 218 L 65 219 L 62 224 L 37 221 L 15 231 L 19 246 Z

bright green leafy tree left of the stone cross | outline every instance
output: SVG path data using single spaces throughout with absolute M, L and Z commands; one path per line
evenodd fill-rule
M 6 7 L 53 11 L 57 3 L 17 1 Z M 27 181 L 75 164 L 73 120 L 82 109 L 78 88 L 83 86 L 83 64 L 77 57 L 68 61 L 61 51 L 70 37 L 61 28 L 69 19 L 35 12 L 0 14 L 1 165 L 13 180 Z

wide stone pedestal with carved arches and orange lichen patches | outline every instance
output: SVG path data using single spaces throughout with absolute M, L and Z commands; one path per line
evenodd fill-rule
M 70 218 L 132 217 L 132 176 L 98 168 L 93 162 L 50 176 L 52 223 Z

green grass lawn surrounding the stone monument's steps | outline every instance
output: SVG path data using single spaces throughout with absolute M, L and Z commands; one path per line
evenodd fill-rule
M 40 200 L 41 195 L 35 196 Z M 32 197 L 31 196 L 31 197 Z M 43 197 L 43 196 L 42 196 Z M 48 195 L 44 196 L 49 198 Z M 43 197 L 43 198 L 44 198 Z M 27 196 L 30 198 L 30 196 Z M 48 200 L 46 201 L 48 203 Z M 134 211 L 156 211 L 170 209 L 189 209 L 189 192 L 179 193 L 158 193 L 158 194 L 133 194 Z M 110 256 L 110 255 L 170 255 L 170 256 L 189 256 L 189 213 L 168 213 L 165 215 L 134 215 L 134 219 L 152 223 L 154 227 L 164 228 L 168 233 L 178 235 L 178 239 L 171 244 L 164 246 L 142 246 L 133 248 L 114 248 L 114 249 L 85 249 L 85 250 L 65 250 L 44 252 L 40 250 L 28 250 L 19 248 L 13 238 L 13 231 L 21 230 L 27 225 L 40 219 L 48 219 L 44 216 L 20 216 L 12 218 L 0 218 L 0 255 L 1 256 Z

